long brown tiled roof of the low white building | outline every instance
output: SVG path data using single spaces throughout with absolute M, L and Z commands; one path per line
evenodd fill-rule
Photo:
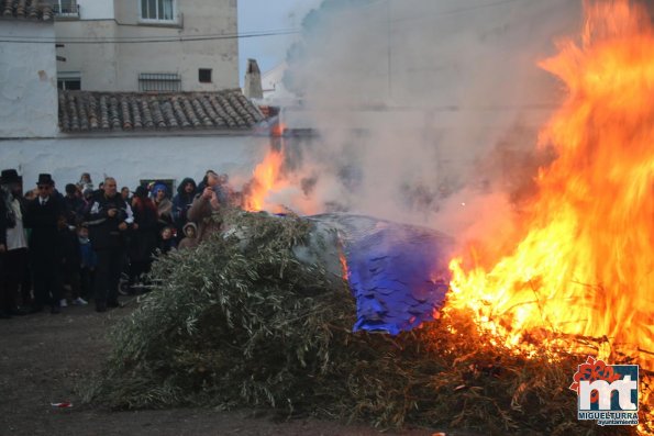
M 62 132 L 250 128 L 264 116 L 241 90 L 218 92 L 59 91 Z

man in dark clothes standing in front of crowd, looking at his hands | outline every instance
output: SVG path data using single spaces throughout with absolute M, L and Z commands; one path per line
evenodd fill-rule
M 133 227 L 132 208 L 118 192 L 115 179 L 104 179 L 103 190 L 93 198 L 88 216 L 93 250 L 98 255 L 96 269 L 96 311 L 118 308 L 118 284 L 125 256 L 125 235 Z

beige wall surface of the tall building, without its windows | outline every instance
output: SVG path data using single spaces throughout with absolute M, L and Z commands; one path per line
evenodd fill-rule
M 88 4 L 87 4 L 88 3 Z M 100 7 L 97 3 L 104 3 Z M 145 23 L 140 1 L 79 1 L 80 20 L 59 20 L 57 38 L 185 38 L 198 35 L 235 35 L 235 0 L 176 1 L 174 23 Z M 111 5 L 111 7 L 110 7 Z M 90 10 L 87 11 L 87 8 Z M 58 55 L 59 71 L 81 71 L 81 88 L 93 91 L 137 91 L 138 74 L 174 72 L 182 91 L 217 91 L 239 87 L 236 38 L 193 42 L 67 44 Z M 200 68 L 212 69 L 212 82 L 201 83 Z

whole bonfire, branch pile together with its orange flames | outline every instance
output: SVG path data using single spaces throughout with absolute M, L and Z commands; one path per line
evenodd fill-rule
M 539 171 L 520 236 L 500 255 L 486 255 L 488 241 L 445 259 L 446 299 L 433 298 L 445 277 L 433 265 L 430 304 L 411 313 L 419 322 L 391 329 L 384 308 L 362 312 L 362 292 L 373 291 L 355 280 L 356 248 L 339 226 L 256 212 L 288 185 L 284 154 L 273 152 L 250 185 L 252 212 L 223 212 L 230 232 L 156 262 L 155 289 L 115 328 L 87 398 L 591 434 L 600 427 L 579 420 L 579 385 L 638 365 L 638 426 L 601 428 L 654 433 L 654 33 L 627 1 L 586 12 L 581 43 L 562 42 L 541 63 L 568 96 L 541 132 L 556 158 Z M 375 325 L 366 316 L 385 327 L 353 332 Z

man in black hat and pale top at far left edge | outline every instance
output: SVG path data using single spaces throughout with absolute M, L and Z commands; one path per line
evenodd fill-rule
M 3 247 L 0 247 L 0 317 L 24 315 L 19 309 L 18 291 L 27 271 L 27 236 L 23 227 L 25 204 L 22 198 L 22 179 L 15 169 L 3 169 L 0 175 L 0 198 L 4 221 Z M 29 294 L 29 290 L 25 290 Z M 23 301 L 29 304 L 30 301 Z

